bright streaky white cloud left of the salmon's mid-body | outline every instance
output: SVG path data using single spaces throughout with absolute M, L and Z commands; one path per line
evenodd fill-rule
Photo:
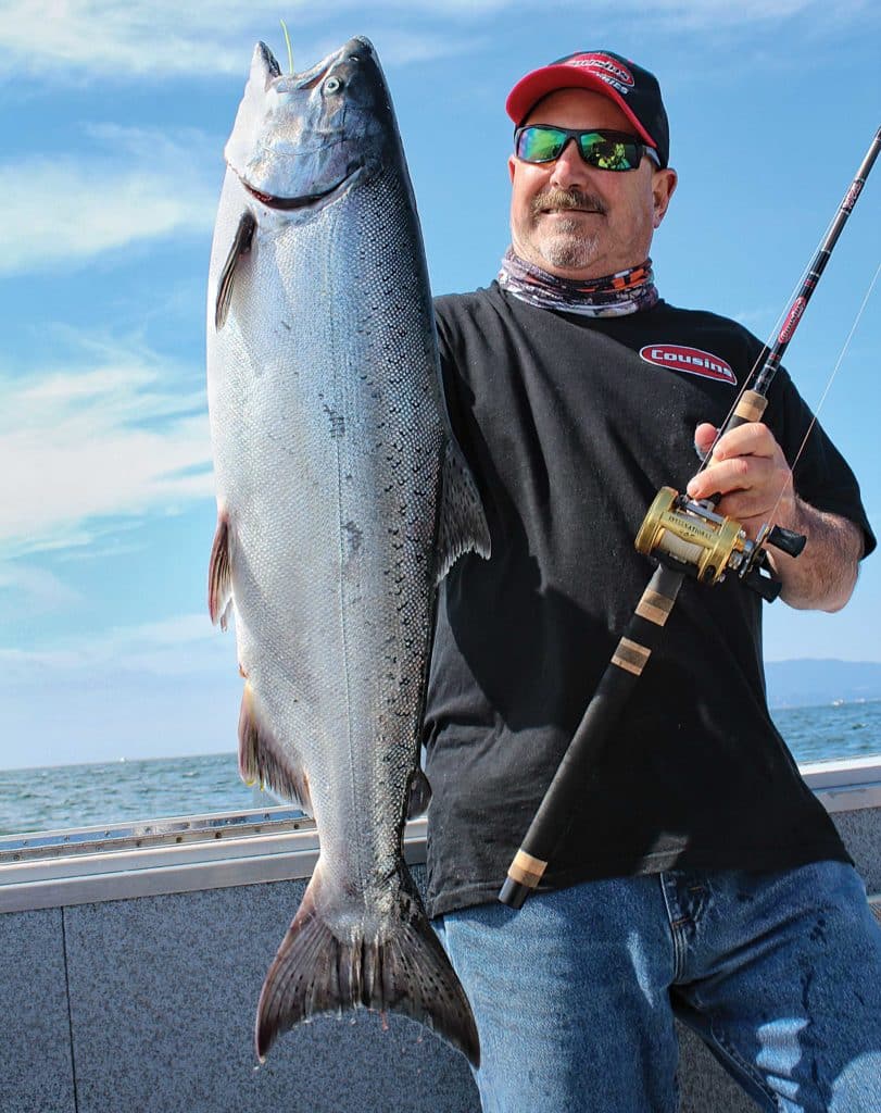
M 205 395 L 182 368 L 105 351 L 92 364 L 0 370 L 0 542 L 8 555 L 90 541 L 118 515 L 176 510 L 214 490 Z

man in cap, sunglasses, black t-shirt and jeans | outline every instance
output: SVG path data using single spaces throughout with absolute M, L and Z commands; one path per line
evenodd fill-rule
M 451 416 L 493 558 L 438 607 L 426 713 L 429 910 L 474 1006 L 484 1110 L 672 1111 L 673 1016 L 766 1110 L 878 1110 L 881 933 L 764 699 L 761 607 L 686 582 L 538 893 L 496 902 L 652 564 L 659 487 L 773 552 L 783 599 L 835 610 L 874 538 L 785 372 L 765 424 L 706 451 L 762 345 L 673 308 L 649 250 L 676 185 L 655 78 L 611 51 L 527 75 L 507 110 L 512 246 L 437 302 Z

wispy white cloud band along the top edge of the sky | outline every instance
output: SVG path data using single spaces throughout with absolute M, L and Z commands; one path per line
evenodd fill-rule
M 575 0 L 545 0 L 543 12 L 571 11 Z M 52 82 L 155 76 L 204 79 L 246 75 L 250 47 L 264 39 L 287 68 L 279 17 L 285 17 L 295 67 L 318 60 L 352 33 L 367 31 L 388 63 L 406 65 L 474 49 L 474 28 L 493 17 L 534 16 L 534 0 L 298 0 L 286 8 L 269 0 L 6 0 L 0 13 L 0 75 L 22 71 Z M 662 29 L 763 26 L 800 17 L 802 26 L 829 18 L 821 0 L 640 0 L 603 10 L 603 26 L 628 27 L 652 19 Z M 840 0 L 841 23 L 871 13 L 869 0 Z

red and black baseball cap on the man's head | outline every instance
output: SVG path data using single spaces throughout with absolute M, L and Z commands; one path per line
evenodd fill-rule
M 580 50 L 533 70 L 508 93 L 505 109 L 519 127 L 531 109 L 557 89 L 590 89 L 613 100 L 641 139 L 657 151 L 661 166 L 670 158 L 670 125 L 657 78 L 611 50 Z

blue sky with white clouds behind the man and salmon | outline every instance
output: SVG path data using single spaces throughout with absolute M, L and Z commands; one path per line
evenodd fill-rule
M 507 244 L 509 87 L 606 47 L 661 79 L 680 187 L 661 293 L 764 337 L 881 122 L 881 9 L 841 0 L 198 6 L 0 12 L 0 764 L 234 750 L 231 634 L 206 613 L 215 508 L 205 285 L 254 43 L 295 68 L 354 33 L 383 59 L 436 293 Z M 870 179 L 789 352 L 820 398 L 878 265 Z M 880 284 L 881 285 L 881 284 Z M 822 421 L 881 525 L 881 290 Z M 881 660 L 881 559 L 838 615 L 768 610 L 766 656 Z

